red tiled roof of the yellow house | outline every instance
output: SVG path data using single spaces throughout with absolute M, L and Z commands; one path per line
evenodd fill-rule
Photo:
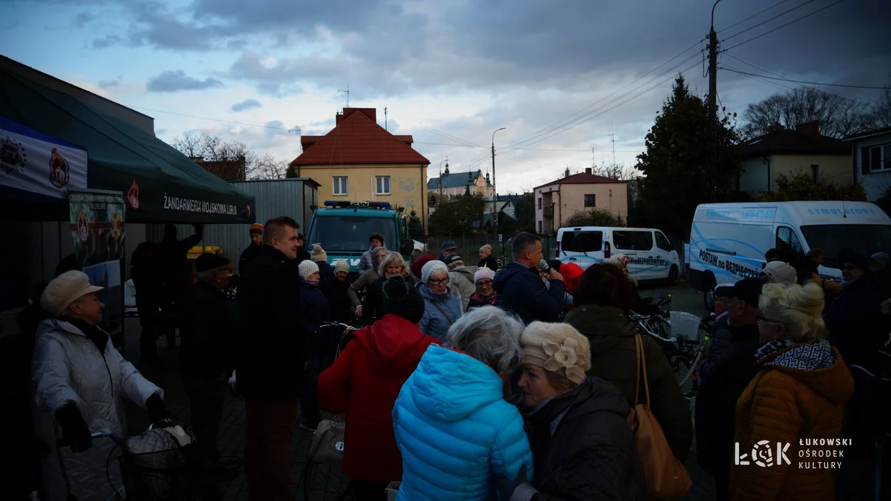
M 411 146 L 411 135 L 394 135 L 378 125 L 364 110 L 351 109 L 324 136 L 303 136 L 303 153 L 291 164 L 297 166 L 340 166 L 375 164 L 425 164 Z

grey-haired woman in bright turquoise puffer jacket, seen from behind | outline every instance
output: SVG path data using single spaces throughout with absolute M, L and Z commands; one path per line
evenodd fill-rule
M 523 324 L 483 306 L 457 320 L 446 348 L 432 345 L 393 408 L 402 454 L 397 500 L 495 499 L 495 476 L 533 474 L 523 419 L 503 399 L 519 365 Z

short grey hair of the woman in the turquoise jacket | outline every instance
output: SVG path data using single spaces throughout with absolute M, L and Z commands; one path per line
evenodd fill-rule
M 465 352 L 507 374 L 523 358 L 523 348 L 519 345 L 521 334 L 523 322 L 517 317 L 495 306 L 481 306 L 468 311 L 449 327 L 446 348 Z

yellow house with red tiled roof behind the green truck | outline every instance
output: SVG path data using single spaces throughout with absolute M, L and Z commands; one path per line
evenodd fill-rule
M 414 210 L 427 230 L 427 167 L 411 135 L 388 133 L 373 108 L 344 108 L 330 133 L 300 138 L 291 161 L 299 177 L 319 182 L 319 200 L 389 202 Z

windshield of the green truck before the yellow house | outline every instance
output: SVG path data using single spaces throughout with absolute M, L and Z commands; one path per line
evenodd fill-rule
M 396 219 L 391 217 L 318 216 L 309 232 L 307 244 L 319 244 L 327 253 L 365 252 L 372 233 L 380 233 L 384 245 L 396 249 Z

